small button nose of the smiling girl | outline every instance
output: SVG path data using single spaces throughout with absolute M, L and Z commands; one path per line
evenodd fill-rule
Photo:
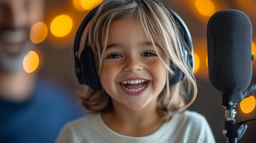
M 129 57 L 125 60 L 124 71 L 137 72 L 143 69 L 143 66 L 137 58 Z

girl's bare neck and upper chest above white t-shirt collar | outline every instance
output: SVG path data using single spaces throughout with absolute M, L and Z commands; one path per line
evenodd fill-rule
M 150 104 L 155 105 L 147 105 L 141 110 L 130 110 L 117 104 L 121 103 L 113 101 L 115 111 L 104 113 L 102 117 L 110 129 L 122 135 L 146 136 L 164 123 L 163 115 L 156 109 L 156 102 L 151 102 Z

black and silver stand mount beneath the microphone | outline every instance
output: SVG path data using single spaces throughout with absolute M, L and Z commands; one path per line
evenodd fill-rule
M 223 92 L 222 105 L 225 108 L 225 126 L 223 135 L 226 136 L 228 143 L 237 143 L 238 139 L 242 138 L 247 129 L 247 125 L 243 126 L 236 123 L 236 104 L 244 98 L 243 92 L 238 92 L 235 89 L 228 92 Z

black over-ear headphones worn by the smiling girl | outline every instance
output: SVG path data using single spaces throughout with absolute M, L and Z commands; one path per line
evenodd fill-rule
M 169 13 L 171 13 L 172 16 L 174 17 L 174 20 L 177 22 L 177 24 L 179 24 L 178 27 L 180 27 L 181 37 L 184 39 L 184 41 L 181 41 L 182 52 L 184 54 L 185 61 L 190 63 L 190 66 L 192 67 L 192 70 L 193 70 L 194 69 L 193 45 L 192 45 L 192 38 L 189 32 L 189 29 L 187 28 L 186 24 L 177 13 L 172 11 L 170 8 L 168 8 L 168 10 L 169 10 Z M 92 89 L 100 90 L 102 88 L 100 84 L 100 79 L 97 75 L 92 48 L 87 44 L 85 44 L 85 48 L 82 51 L 81 55 L 79 56 L 79 47 L 81 45 L 82 35 L 84 33 L 85 28 L 87 27 L 87 24 L 90 22 L 90 20 L 94 16 L 95 11 L 97 11 L 97 7 L 94 8 L 92 11 L 90 11 L 90 13 L 88 13 L 88 15 L 84 18 L 81 25 L 79 26 L 78 31 L 76 32 L 75 43 L 74 43 L 74 57 L 75 57 L 75 72 L 76 72 L 76 76 L 78 77 L 79 83 L 81 85 L 82 84 L 88 85 Z M 189 47 L 189 50 L 186 48 L 185 44 Z M 174 73 L 176 73 L 174 77 L 169 76 L 169 85 L 171 86 L 171 85 L 175 85 L 175 83 L 182 80 L 184 77 L 184 73 L 177 67 L 174 68 L 172 63 L 170 65 L 170 68 L 174 71 Z

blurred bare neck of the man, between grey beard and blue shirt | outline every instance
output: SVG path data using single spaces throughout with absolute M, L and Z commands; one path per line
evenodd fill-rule
M 1 98 L 13 101 L 27 100 L 33 91 L 35 73 L 26 73 L 23 69 L 15 72 L 0 71 Z

